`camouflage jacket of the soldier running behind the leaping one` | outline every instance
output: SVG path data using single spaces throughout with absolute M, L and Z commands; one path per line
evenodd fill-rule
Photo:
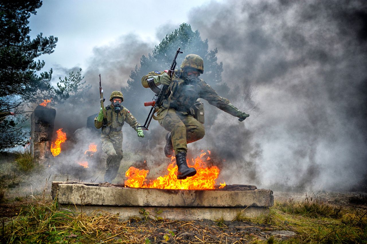
M 110 104 L 106 106 L 106 126 L 103 126 L 103 121 L 97 121 L 97 117 L 94 118 L 94 126 L 99 129 L 102 127 L 102 132 L 105 128 L 109 128 L 110 131 L 118 132 L 121 130 L 125 122 L 127 122 L 133 129 L 140 124 L 137 122 L 135 117 L 130 113 L 126 107 L 122 107 L 119 113 L 114 111 L 114 106 Z M 98 115 L 97 115 L 98 116 Z

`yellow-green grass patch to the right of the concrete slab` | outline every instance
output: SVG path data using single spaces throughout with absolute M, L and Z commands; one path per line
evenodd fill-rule
M 295 202 L 275 202 L 273 211 L 279 226 L 295 230 L 298 236 L 285 243 L 367 243 L 366 210 L 327 204 L 305 198 Z M 273 217 L 276 215 L 273 214 Z M 281 216 L 281 218 L 279 218 Z

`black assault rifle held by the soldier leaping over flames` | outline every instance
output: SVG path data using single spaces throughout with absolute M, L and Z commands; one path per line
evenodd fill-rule
M 179 53 L 183 53 L 182 51 L 180 51 L 180 48 L 177 49 L 175 57 L 173 58 L 171 67 L 167 72 L 167 74 L 170 77 L 172 77 L 172 75 L 175 72 L 175 67 L 176 67 L 176 64 L 177 64 L 176 59 L 177 59 L 177 55 Z M 146 121 L 145 121 L 144 125 L 137 126 L 137 129 L 142 129 L 142 130 L 148 130 L 150 121 L 152 121 L 153 115 L 156 112 L 156 108 L 158 108 L 162 105 L 163 100 L 164 100 L 164 95 L 166 94 L 166 91 L 168 89 L 168 85 L 163 85 L 162 88 L 159 88 L 156 84 L 154 84 L 154 79 L 153 78 L 148 79 L 148 85 L 149 85 L 150 89 L 152 89 L 152 91 L 155 93 L 155 95 L 153 97 L 153 101 L 144 102 L 145 107 L 152 106 L 152 108 L 150 109 L 150 112 L 148 114 L 148 118 L 146 118 Z

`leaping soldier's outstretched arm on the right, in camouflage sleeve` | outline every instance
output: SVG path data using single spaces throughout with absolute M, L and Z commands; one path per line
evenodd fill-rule
M 239 118 L 239 121 L 244 121 L 247 117 L 250 116 L 249 114 L 246 114 L 245 112 L 242 112 L 241 110 L 233 106 L 233 104 L 230 103 L 229 100 L 225 97 L 218 96 L 218 93 L 213 88 L 211 88 L 210 85 L 206 84 L 204 81 L 202 82 L 203 83 L 201 84 L 200 97 L 207 100 L 209 104 L 227 112 L 230 115 Z

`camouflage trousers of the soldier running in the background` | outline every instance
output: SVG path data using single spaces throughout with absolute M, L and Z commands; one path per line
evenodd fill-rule
M 120 163 L 124 157 L 122 152 L 122 132 L 110 132 L 101 136 L 102 151 L 107 154 L 105 181 L 110 182 L 116 178 Z

